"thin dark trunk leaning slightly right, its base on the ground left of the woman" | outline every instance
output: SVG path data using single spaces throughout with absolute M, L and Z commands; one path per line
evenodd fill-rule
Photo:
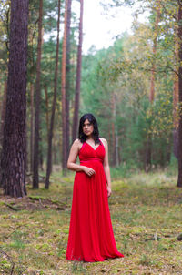
M 52 166 L 52 140 L 53 140 L 53 130 L 54 130 L 54 122 L 55 122 L 56 95 L 57 95 L 57 74 L 58 74 L 58 59 L 59 59 L 60 9 L 61 9 L 61 0 L 58 0 L 57 39 L 56 39 L 56 66 L 55 66 L 55 80 L 54 80 L 54 97 L 53 97 L 50 129 L 48 131 L 48 150 L 47 150 L 46 178 L 45 178 L 45 188 L 46 189 L 49 188 L 49 178 L 50 178 L 51 166 Z

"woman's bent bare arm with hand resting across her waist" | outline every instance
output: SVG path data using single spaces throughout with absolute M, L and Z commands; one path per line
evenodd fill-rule
M 69 157 L 67 159 L 67 168 L 70 170 L 74 170 L 76 172 L 83 171 L 85 172 L 88 176 L 92 176 L 95 174 L 95 170 L 92 168 L 87 168 L 86 166 L 82 166 L 79 164 L 76 164 L 76 158 L 78 156 L 79 150 L 81 148 L 81 142 L 79 139 L 76 139 L 70 149 Z

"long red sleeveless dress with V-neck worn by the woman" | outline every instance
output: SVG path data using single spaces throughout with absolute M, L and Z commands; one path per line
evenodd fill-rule
M 102 142 L 96 149 L 85 142 L 80 149 L 80 165 L 93 168 L 96 174 L 89 177 L 85 172 L 76 172 L 67 260 L 103 261 L 124 257 L 116 249 L 108 208 L 104 158 Z

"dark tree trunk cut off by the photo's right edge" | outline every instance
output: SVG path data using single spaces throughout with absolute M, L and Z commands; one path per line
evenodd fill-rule
M 179 68 L 178 68 L 178 93 L 179 93 L 179 126 L 178 126 L 178 178 L 177 187 L 182 187 L 182 1 L 178 8 L 178 38 L 179 38 Z

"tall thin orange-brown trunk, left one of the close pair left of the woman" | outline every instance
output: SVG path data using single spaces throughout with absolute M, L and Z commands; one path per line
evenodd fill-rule
M 61 74 L 61 96 L 62 96 L 62 168 L 63 174 L 66 175 L 66 31 L 67 31 L 67 8 L 68 0 L 65 6 L 65 25 L 62 50 L 62 74 Z

